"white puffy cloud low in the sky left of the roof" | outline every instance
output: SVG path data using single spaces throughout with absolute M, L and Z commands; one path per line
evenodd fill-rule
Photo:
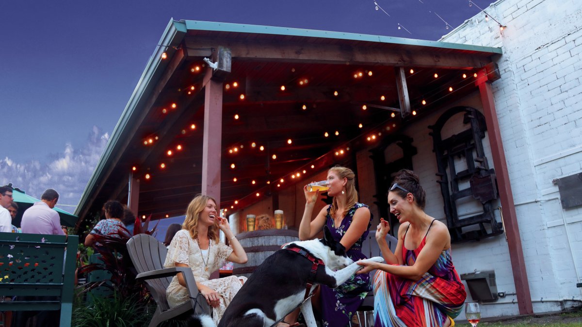
M 83 147 L 75 149 L 68 143 L 62 152 L 50 155 L 46 162 L 0 159 L 0 185 L 12 183 L 36 198 L 46 189 L 55 189 L 61 195 L 59 204 L 77 205 L 108 140 L 108 133 L 93 126 Z M 74 211 L 74 207 L 61 208 Z

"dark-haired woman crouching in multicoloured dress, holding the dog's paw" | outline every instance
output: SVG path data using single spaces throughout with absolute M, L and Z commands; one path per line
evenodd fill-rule
M 390 212 L 400 222 L 395 253 L 386 244 L 381 219 L 376 240 L 386 264 L 361 262 L 358 273 L 374 275 L 375 326 L 452 326 L 467 297 L 450 256 L 445 224 L 424 212 L 426 194 L 418 176 L 400 170 L 388 192 Z

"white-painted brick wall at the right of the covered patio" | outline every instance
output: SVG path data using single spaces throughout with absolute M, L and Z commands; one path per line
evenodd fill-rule
M 582 172 L 582 1 L 499 0 L 485 11 L 507 28 L 481 13 L 441 41 L 503 48 L 492 87 L 534 311 L 560 310 L 546 301 L 581 298 L 582 208 L 562 209 L 552 180 Z M 495 266 L 499 290 L 514 292 L 499 239 L 457 246 L 455 264 Z M 484 317 L 517 314 L 514 304 L 484 307 Z

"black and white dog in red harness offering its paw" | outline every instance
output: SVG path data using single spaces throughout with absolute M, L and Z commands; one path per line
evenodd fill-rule
M 367 260 L 384 262 L 382 257 Z M 361 268 L 347 257 L 346 248 L 333 240 L 325 226 L 323 239 L 285 244 L 265 259 L 230 302 L 218 327 L 269 327 L 301 302 L 307 326 L 315 327 L 311 301 L 303 300 L 313 293 L 315 285 L 338 287 Z M 203 327 L 214 327 L 210 317 L 195 319 Z

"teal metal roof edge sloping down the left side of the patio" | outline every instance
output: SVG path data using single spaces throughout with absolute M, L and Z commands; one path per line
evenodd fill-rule
M 182 42 L 184 35 L 186 35 L 185 24 L 171 19 L 166 26 L 166 29 L 164 30 L 158 45 L 155 47 L 154 53 L 150 56 L 150 59 L 145 65 L 145 69 L 143 73 L 141 73 L 141 77 L 137 82 L 136 88 L 134 88 L 121 117 L 115 125 L 107 145 L 105 145 L 105 150 L 101 154 L 99 162 L 97 163 L 97 166 L 95 166 L 93 174 L 91 174 L 91 177 L 88 180 L 85 189 L 83 190 L 83 194 L 79 199 L 79 203 L 77 204 L 77 208 L 74 211 L 74 215 L 80 217 L 81 213 L 84 214 L 83 211 L 85 210 L 85 206 L 90 200 L 90 197 L 93 195 L 98 180 L 104 178 L 102 174 L 104 173 L 105 168 L 107 168 L 108 165 L 113 164 L 112 162 L 108 162 L 109 158 L 111 157 L 114 150 L 122 150 L 118 149 L 119 139 L 122 138 L 124 131 L 127 129 L 127 126 L 129 126 L 128 124 L 132 122 L 132 117 L 138 112 L 138 106 L 143 105 L 143 101 L 147 99 L 149 91 L 155 86 L 155 81 L 159 79 L 159 76 L 161 76 L 165 67 L 168 65 L 169 60 L 161 60 L 162 52 L 168 51 L 168 49 L 171 49 L 170 47 L 176 47 L 179 45 L 180 42 Z M 144 95 L 146 95 L 145 98 Z

